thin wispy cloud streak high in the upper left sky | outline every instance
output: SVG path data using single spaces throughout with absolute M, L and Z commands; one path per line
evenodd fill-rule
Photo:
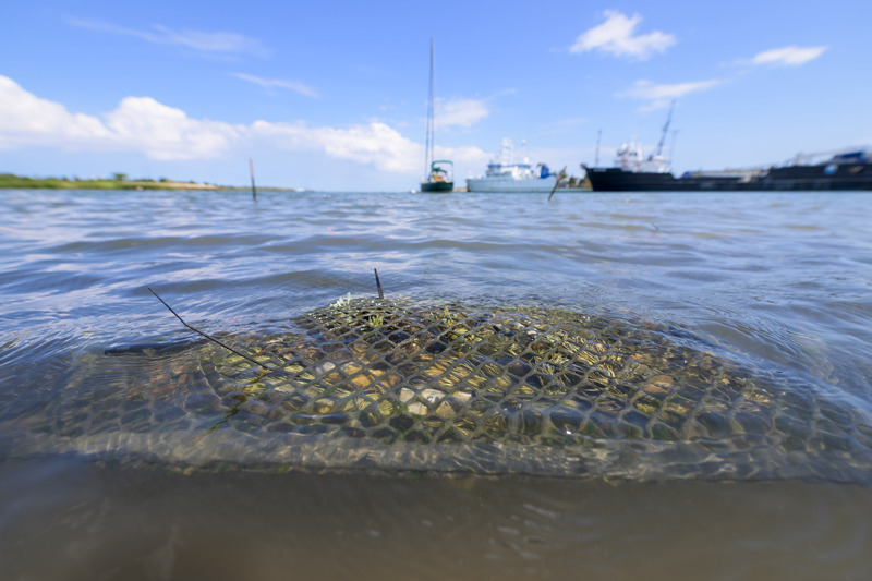
M 227 33 L 181 29 L 173 31 L 167 26 L 154 25 L 152 29 L 128 28 L 114 24 L 85 19 L 66 19 L 66 22 L 80 28 L 119 34 L 141 38 L 155 45 L 177 45 L 194 49 L 203 53 L 235 55 L 249 53 L 266 57 L 269 50 L 256 38 Z

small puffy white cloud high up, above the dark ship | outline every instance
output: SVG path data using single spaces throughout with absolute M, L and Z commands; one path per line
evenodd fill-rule
M 616 10 L 606 10 L 605 16 L 603 24 L 579 36 L 569 51 L 600 50 L 615 57 L 647 60 L 656 52 L 665 52 L 677 41 L 675 35 L 661 31 L 634 35 L 642 22 L 640 14 L 627 16 Z

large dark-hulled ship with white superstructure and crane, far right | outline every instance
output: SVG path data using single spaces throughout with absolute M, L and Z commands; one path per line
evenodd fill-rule
M 645 158 L 629 143 L 617 152 L 615 167 L 589 168 L 594 192 L 740 192 L 799 190 L 872 190 L 872 152 L 865 148 L 797 155 L 789 164 L 770 168 L 671 173 L 663 142 L 673 111 L 663 128 L 657 153 Z

